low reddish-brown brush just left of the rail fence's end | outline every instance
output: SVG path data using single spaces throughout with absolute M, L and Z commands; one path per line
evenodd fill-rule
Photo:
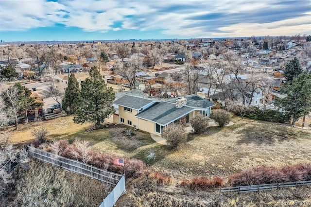
M 181 186 L 188 186 L 193 190 L 221 188 L 224 186 L 224 184 L 224 179 L 218 176 L 211 179 L 206 177 L 193 177 L 190 180 L 184 179 L 180 182 Z

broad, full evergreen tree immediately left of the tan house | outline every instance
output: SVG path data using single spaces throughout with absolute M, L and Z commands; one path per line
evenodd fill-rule
M 97 68 L 89 70 L 89 78 L 81 84 L 81 104 L 73 121 L 75 123 L 91 122 L 99 128 L 106 118 L 114 113 L 112 106 L 115 93 L 108 87 Z

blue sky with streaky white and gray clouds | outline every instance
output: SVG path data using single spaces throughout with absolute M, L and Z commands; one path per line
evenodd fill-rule
M 311 0 L 0 0 L 3 41 L 311 34 Z

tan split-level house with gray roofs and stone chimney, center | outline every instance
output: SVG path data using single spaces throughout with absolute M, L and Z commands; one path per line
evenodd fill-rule
M 113 115 L 114 123 L 121 123 L 145 132 L 160 135 L 162 130 L 181 121 L 190 125 L 195 115 L 207 117 L 215 104 L 196 94 L 168 101 L 124 95 L 114 102 L 118 107 Z

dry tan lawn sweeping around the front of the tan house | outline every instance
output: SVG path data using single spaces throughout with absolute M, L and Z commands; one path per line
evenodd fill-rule
M 49 139 L 87 140 L 93 149 L 121 157 L 138 158 L 154 169 L 175 177 L 196 175 L 227 176 L 258 166 L 281 167 L 311 160 L 310 130 L 265 121 L 239 120 L 233 126 L 209 127 L 202 135 L 189 134 L 189 141 L 171 150 L 156 143 L 149 134 L 132 131 L 124 125 L 87 131 L 89 125 L 74 124 L 72 116 L 42 122 Z M 36 126 L 37 127 L 37 126 Z M 12 142 L 33 138 L 33 127 L 19 127 Z

